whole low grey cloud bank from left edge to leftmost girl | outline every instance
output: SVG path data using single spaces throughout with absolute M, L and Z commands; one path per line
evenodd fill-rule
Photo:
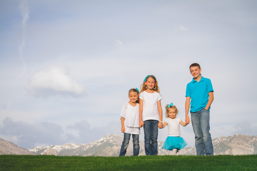
M 70 133 L 63 130 L 59 124 L 49 122 L 29 124 L 27 122 L 16 122 L 12 118 L 6 117 L 0 123 L 0 137 L 20 147 L 33 148 L 38 145 L 90 143 L 107 134 L 120 133 L 119 122 L 109 122 L 106 126 L 90 128 L 87 120 L 81 120 L 73 125 L 68 125 L 67 128 Z M 78 135 L 76 135 L 76 132 L 78 132 Z

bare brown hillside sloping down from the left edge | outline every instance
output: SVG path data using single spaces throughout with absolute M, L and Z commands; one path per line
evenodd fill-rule
M 1 154 L 34 154 L 34 153 L 0 138 L 0 155 Z

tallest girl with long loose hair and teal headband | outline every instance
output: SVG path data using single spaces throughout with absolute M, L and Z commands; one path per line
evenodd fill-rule
M 144 126 L 146 155 L 157 155 L 158 127 L 162 127 L 161 95 L 153 75 L 145 77 L 139 94 L 139 125 Z

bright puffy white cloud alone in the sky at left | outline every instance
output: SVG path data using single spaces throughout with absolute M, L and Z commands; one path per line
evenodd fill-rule
M 70 78 L 65 67 L 51 66 L 30 76 L 26 89 L 32 96 L 50 96 L 64 94 L 79 96 L 85 94 L 85 88 Z

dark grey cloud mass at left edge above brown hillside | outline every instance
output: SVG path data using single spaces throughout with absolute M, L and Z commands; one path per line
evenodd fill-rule
M 65 134 L 60 125 L 47 122 L 15 122 L 10 117 L 6 117 L 0 124 L 0 136 L 23 148 L 33 148 L 38 144 L 60 145 L 73 139 L 73 135 Z

